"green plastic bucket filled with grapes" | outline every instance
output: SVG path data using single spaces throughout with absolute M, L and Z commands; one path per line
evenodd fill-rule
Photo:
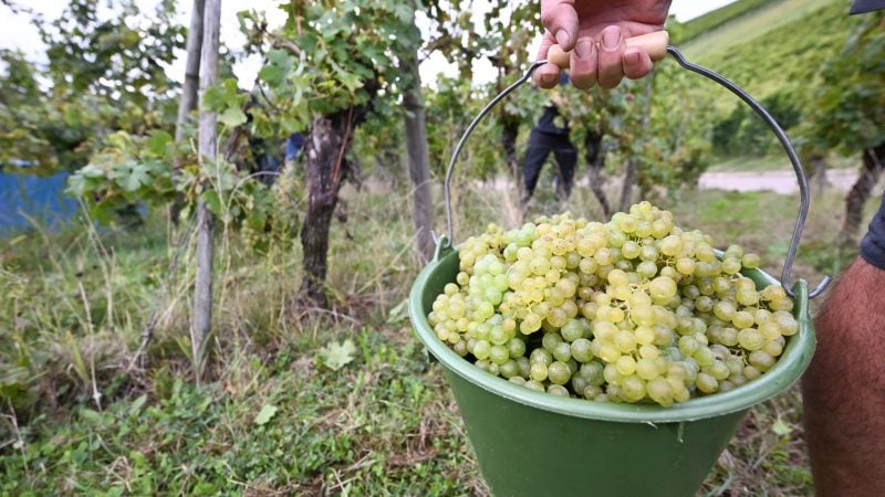
M 790 387 L 814 351 L 808 285 L 799 281 L 799 332 L 789 337 L 777 364 L 753 381 L 670 408 L 560 398 L 482 371 L 436 337 L 427 314 L 457 272 L 458 253 L 438 248 L 412 287 L 409 317 L 442 366 L 496 496 L 694 495 L 747 411 Z M 757 286 L 779 284 L 758 269 L 743 274 Z

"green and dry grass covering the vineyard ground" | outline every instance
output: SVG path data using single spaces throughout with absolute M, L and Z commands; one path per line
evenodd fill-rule
M 511 192 L 456 189 L 456 242 L 489 222 L 519 223 Z M 597 216 L 586 189 L 563 204 L 548 189 L 542 181 L 533 212 Z M 439 366 L 400 305 L 420 267 L 405 199 L 381 186 L 345 191 L 331 311 L 291 306 L 296 244 L 254 253 L 219 235 L 201 383 L 183 341 L 191 275 L 188 264 L 167 274 L 175 251 L 162 216 L 135 232 L 0 242 L 3 292 L 15 292 L 0 307 L 0 495 L 488 495 Z M 686 190 L 653 200 L 779 274 L 794 197 Z M 816 282 L 852 256 L 832 245 L 841 201 L 815 199 L 798 276 Z M 147 361 L 131 367 L 155 308 L 165 313 Z M 332 342 L 347 340 L 353 351 L 331 361 Z M 800 420 L 795 390 L 753 408 L 699 495 L 811 494 Z

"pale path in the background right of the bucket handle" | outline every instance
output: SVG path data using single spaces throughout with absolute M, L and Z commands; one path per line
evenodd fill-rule
M 826 171 L 829 186 L 839 191 L 848 191 L 856 180 L 857 171 L 854 169 L 831 169 Z M 698 187 L 708 190 L 772 190 L 777 193 L 793 193 L 799 190 L 799 183 L 793 171 L 705 172 L 700 175 Z

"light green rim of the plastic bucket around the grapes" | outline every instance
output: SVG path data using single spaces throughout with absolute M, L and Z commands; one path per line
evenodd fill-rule
M 493 394 L 542 411 L 589 420 L 648 424 L 696 421 L 746 411 L 792 385 L 811 362 L 816 342 L 809 316 L 808 283 L 799 279 L 793 286 L 796 297 L 793 314 L 799 321 L 799 331 L 787 337 L 787 346 L 774 367 L 756 380 L 733 390 L 693 398 L 686 402 L 674 403 L 669 408 L 658 404 L 595 402 L 538 392 L 477 368 L 437 338 L 427 321 L 421 293 L 431 275 L 445 262 L 449 262 L 449 257 L 457 258 L 458 252 L 452 250 L 444 256 L 437 255 L 421 269 L 409 292 L 408 314 L 418 338 L 428 352 L 452 373 Z M 742 274 L 753 277 L 754 281 L 761 279 L 766 284 L 780 286 L 780 282 L 761 269 L 743 269 Z

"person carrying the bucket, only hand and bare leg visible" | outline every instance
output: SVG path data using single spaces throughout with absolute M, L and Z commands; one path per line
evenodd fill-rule
M 546 28 L 538 60 L 559 43 L 571 55 L 574 86 L 612 88 L 652 71 L 644 50 L 626 38 L 663 29 L 669 0 L 541 0 Z M 854 0 L 851 13 L 885 9 Z M 597 43 L 598 42 L 598 45 Z M 885 54 L 883 54 L 885 57 Z M 543 88 L 559 67 L 534 73 Z M 833 285 L 815 319 L 818 348 L 802 379 L 803 424 L 819 497 L 885 495 L 885 199 L 861 242 L 860 255 Z

